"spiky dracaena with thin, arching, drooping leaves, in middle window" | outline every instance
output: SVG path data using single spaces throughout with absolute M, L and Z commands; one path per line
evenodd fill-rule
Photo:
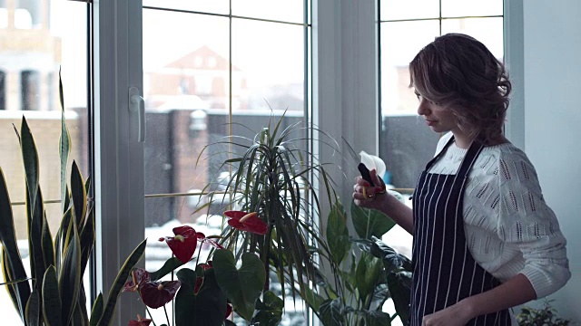
M 283 119 L 284 115 L 279 120 L 271 118 L 252 139 L 231 136 L 204 148 L 202 153 L 209 147 L 229 148 L 224 151 L 229 158 L 222 161 L 221 169 L 230 171 L 226 181 L 222 180 L 222 193 L 210 191 L 212 184 L 204 190 L 210 191 L 209 203 L 227 203 L 244 212 L 255 212 L 248 221 L 235 214 L 227 216 L 231 219 L 222 231 L 220 244 L 237 258 L 246 253 L 258 255 L 266 275 L 273 272 L 278 277 L 282 295 L 289 292 L 294 296 L 295 290 L 304 294 L 315 282 L 320 257 L 330 257 L 313 216 L 318 218 L 320 214 L 318 196 L 330 201 L 335 195 L 326 164 L 313 162 L 310 151 L 300 147 L 307 129 L 300 122 L 282 129 Z M 339 147 L 324 132 L 314 132 L 319 134 L 320 143 Z M 319 182 L 311 182 L 311 176 L 318 177 Z M 249 227 L 262 225 L 261 232 L 249 233 L 237 227 L 245 223 Z M 291 285 L 290 291 L 285 290 L 285 283 Z M 267 278 L 263 292 L 269 290 L 269 284 Z

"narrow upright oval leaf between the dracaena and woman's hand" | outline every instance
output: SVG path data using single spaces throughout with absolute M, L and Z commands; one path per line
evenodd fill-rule
M 333 263 L 341 264 L 350 249 L 349 231 L 346 225 L 346 213 L 339 201 L 331 207 L 327 223 L 327 242 Z

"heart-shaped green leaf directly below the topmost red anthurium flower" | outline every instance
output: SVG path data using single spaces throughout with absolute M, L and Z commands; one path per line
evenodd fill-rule
M 234 254 L 229 250 L 217 250 L 212 263 L 220 288 L 242 318 L 251 321 L 256 300 L 266 282 L 266 272 L 261 260 L 251 253 L 242 254 L 240 269 L 236 269 Z

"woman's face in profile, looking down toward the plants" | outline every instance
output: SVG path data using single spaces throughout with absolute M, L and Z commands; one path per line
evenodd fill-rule
M 452 113 L 452 110 L 445 109 L 433 101 L 429 101 L 423 97 L 418 91 L 419 106 L 418 114 L 426 120 L 428 127 L 435 132 L 452 131 L 455 134 L 459 132 L 458 119 Z

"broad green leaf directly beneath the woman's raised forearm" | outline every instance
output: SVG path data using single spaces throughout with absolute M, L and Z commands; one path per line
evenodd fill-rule
M 351 216 L 355 232 L 364 239 L 370 239 L 371 236 L 380 238 L 395 225 L 395 222 L 383 213 L 375 209 L 359 207 L 353 201 L 351 201 Z

